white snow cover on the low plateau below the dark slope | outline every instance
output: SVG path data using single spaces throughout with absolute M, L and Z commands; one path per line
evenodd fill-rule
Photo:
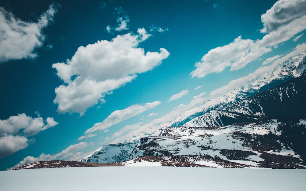
M 218 156 L 223 160 L 228 160 L 226 156 L 220 153 L 220 149 L 226 150 L 241 150 L 250 151 L 254 155 L 249 156 L 250 161 L 264 161 L 260 158 L 261 153 L 243 146 L 243 142 L 239 138 L 234 138 L 234 132 L 241 132 L 247 134 L 266 135 L 269 132 L 274 134 L 281 134 L 277 130 L 277 125 L 280 124 L 278 120 L 271 119 L 265 123 L 248 123 L 248 124 L 236 124 L 224 127 L 165 127 L 159 130 L 156 137 L 149 137 L 146 143 L 154 140 L 157 145 L 146 146 L 146 149 L 155 151 L 154 155 L 159 155 L 159 152 L 169 151 L 172 155 L 210 155 Z M 163 134 L 166 133 L 166 136 Z M 256 137 L 255 135 L 252 135 Z M 255 141 L 251 139 L 250 141 Z M 255 144 L 260 144 L 255 143 Z M 282 144 L 281 144 L 282 145 Z M 200 148 L 203 149 L 200 149 Z M 294 150 L 282 145 L 281 149 L 277 151 L 268 150 L 267 153 L 293 156 L 300 158 Z M 257 155 L 255 155 L 257 154 Z M 143 156 L 143 150 L 132 154 L 132 158 L 135 159 L 138 156 Z M 198 163 L 197 163 L 198 164 Z M 250 165 L 257 166 L 256 162 L 249 163 Z M 215 167 L 211 166 L 210 167 Z

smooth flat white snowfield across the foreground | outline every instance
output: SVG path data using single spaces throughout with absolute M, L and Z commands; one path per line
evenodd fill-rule
M 304 191 L 306 170 L 197 167 L 70 167 L 0 171 L 1 191 Z

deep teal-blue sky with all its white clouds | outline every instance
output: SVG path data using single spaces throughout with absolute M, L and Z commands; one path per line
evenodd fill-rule
M 80 160 L 306 51 L 306 1 L 0 2 L 0 170 Z

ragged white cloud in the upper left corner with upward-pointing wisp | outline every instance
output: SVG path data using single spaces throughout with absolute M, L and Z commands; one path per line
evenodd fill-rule
M 34 58 L 35 49 L 46 39 L 43 28 L 53 20 L 56 10 L 51 5 L 37 22 L 23 21 L 0 7 L 0 62 Z

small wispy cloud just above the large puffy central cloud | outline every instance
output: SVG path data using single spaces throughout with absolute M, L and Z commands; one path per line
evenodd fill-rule
M 112 31 L 129 30 L 129 16 L 125 14 L 125 11 L 123 11 L 122 7 L 116 8 L 115 11 L 117 11 L 118 13 L 117 26 L 111 27 L 110 25 L 108 25 L 106 27 L 106 31 L 108 33 L 111 33 Z

